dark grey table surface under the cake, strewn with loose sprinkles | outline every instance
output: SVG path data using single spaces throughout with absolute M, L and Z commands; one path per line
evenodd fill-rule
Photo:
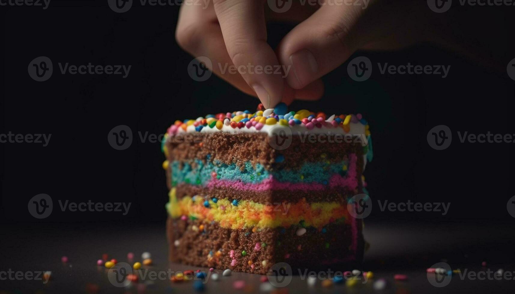
M 236 273 L 222 276 L 218 281 L 208 276 L 204 281 L 204 292 L 281 292 L 281 293 L 506 293 L 515 289 L 511 279 L 485 280 L 470 278 L 469 272 L 487 272 L 504 269 L 512 272 L 513 241 L 515 228 L 509 221 L 367 221 L 365 237 L 371 244 L 365 254 L 361 270 L 372 271 L 374 277 L 368 282 L 358 281 L 354 286 L 333 284 L 322 286 L 317 280 L 315 286 L 308 286 L 306 279 L 294 269 L 293 279 L 286 287 L 266 286 L 260 282 L 261 275 Z M 133 252 L 135 261 L 141 261 L 141 253 L 152 254 L 153 265 L 144 267 L 146 272 L 182 271 L 197 267 L 167 262 L 167 244 L 164 223 L 44 223 L 7 224 L 0 233 L 2 271 L 52 271 L 52 278 L 43 281 L 27 279 L 0 280 L 0 293 L 57 293 L 57 292 L 100 292 L 100 293 L 142 293 L 142 292 L 195 292 L 194 281 L 172 283 L 165 275 L 150 278 L 145 275 L 139 283 L 116 287 L 108 278 L 108 270 L 97 266 L 102 254 L 128 262 L 127 253 Z M 67 263 L 61 262 L 67 256 Z M 453 269 L 460 269 L 465 276 L 455 274 L 449 285 L 435 287 L 428 281 L 426 268 L 438 262 L 447 262 Z M 481 263 L 487 262 L 486 267 Z M 132 262 L 131 262 L 132 264 Z M 146 269 L 146 270 L 145 270 Z M 202 268 L 202 270 L 208 270 Z M 352 270 L 332 268 L 332 271 Z M 394 274 L 406 274 L 406 281 L 394 281 Z M 5 273 L 4 273 L 4 276 Z M 164 276 L 164 278 L 163 278 Z M 492 274 L 493 276 L 493 274 Z M 511 275 L 513 276 L 513 274 Z M 3 278 L 0 275 L 0 278 Z M 382 291 L 373 289 L 373 282 L 385 279 L 388 286 Z M 430 276 L 431 278 L 431 276 Z M 245 281 L 243 289 L 235 289 L 235 281 Z

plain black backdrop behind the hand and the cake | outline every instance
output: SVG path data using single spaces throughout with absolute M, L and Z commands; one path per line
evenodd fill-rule
M 481 16 L 475 22 L 485 25 L 474 23 L 483 28 L 476 38 L 495 33 L 508 42 L 513 37 L 512 26 L 507 23 L 512 10 L 503 19 L 489 14 L 490 8 L 482 9 L 477 10 Z M 192 57 L 174 38 L 178 7 L 141 7 L 136 1 L 128 12 L 115 13 L 106 1 L 52 0 L 46 10 L 7 6 L 0 11 L 2 133 L 52 134 L 47 147 L 0 144 L 1 227 L 11 240 L 0 240 L 0 245 L 9 249 L 2 249 L 2 255 L 23 254 L 26 249 L 16 251 L 16 240 L 37 245 L 38 239 L 31 236 L 39 236 L 38 228 L 44 232 L 90 228 L 94 232 L 113 227 L 130 234 L 133 226 L 148 223 L 157 231 L 163 228 L 164 241 L 164 205 L 168 199 L 161 167 L 164 155 L 159 143 L 142 142 L 138 132 L 162 134 L 176 119 L 253 111 L 258 99 L 214 75 L 204 82 L 188 76 L 186 67 Z M 278 44 L 292 27 L 270 24 L 270 44 Z M 355 82 L 348 77 L 345 63 L 323 78 L 325 94 L 320 101 L 296 101 L 290 106 L 291 110 L 328 114 L 362 113 L 368 119 L 374 160 L 367 165 L 365 176 L 374 201 L 451 203 L 445 216 L 381 212 L 375 206 L 367 221 L 385 221 L 391 228 L 421 219 L 437 226 L 444 223 L 447 228 L 459 222 L 467 243 L 456 246 L 488 238 L 491 227 L 512 227 L 506 203 L 515 195 L 515 145 L 460 143 L 457 135 L 457 131 L 515 133 L 511 123 L 515 82 L 509 79 L 506 67 L 479 65 L 488 63 L 489 57 L 472 60 L 431 44 L 395 52 L 358 52 L 351 59 L 361 55 L 373 64 L 451 65 L 445 79 L 436 75 L 381 75 L 376 70 L 369 80 Z M 27 73 L 29 62 L 39 56 L 49 57 L 54 64 L 53 76 L 44 82 L 32 80 Z M 496 56 L 506 65 L 513 58 L 512 50 Z M 125 79 L 119 75 L 62 75 L 58 62 L 132 67 Z M 118 151 L 108 144 L 108 132 L 118 125 L 133 131 L 133 143 L 126 150 Z M 453 133 L 451 146 L 442 151 L 432 149 L 426 141 L 427 132 L 437 125 L 447 125 Z M 40 193 L 54 200 L 54 212 L 43 220 L 33 218 L 27 210 L 28 200 Z M 58 199 L 132 205 L 127 216 L 61 212 Z M 482 226 L 476 230 L 478 223 Z M 74 236 L 80 242 L 81 237 Z M 491 251 L 485 255 L 493 254 L 510 246 L 511 241 L 500 238 L 480 249 Z M 52 246 L 52 242 L 47 240 L 45 246 Z

